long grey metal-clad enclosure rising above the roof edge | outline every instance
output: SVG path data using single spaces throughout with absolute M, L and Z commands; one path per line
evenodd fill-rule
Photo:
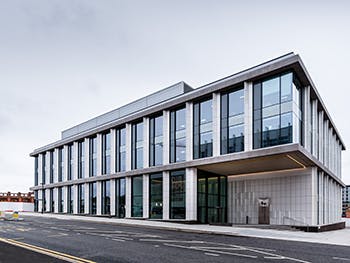
M 141 111 L 147 107 L 172 99 L 192 90 L 193 89 L 186 83 L 179 82 L 173 86 L 157 91 L 151 95 L 138 99 L 118 109 L 112 110 L 91 120 L 76 125 L 70 129 L 64 130 L 62 131 L 62 139 L 66 139 L 76 134 L 94 129 L 98 126 L 107 124 L 129 114 Z

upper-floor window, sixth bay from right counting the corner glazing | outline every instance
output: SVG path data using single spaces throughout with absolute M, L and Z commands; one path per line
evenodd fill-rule
M 143 123 L 132 125 L 132 169 L 143 168 Z

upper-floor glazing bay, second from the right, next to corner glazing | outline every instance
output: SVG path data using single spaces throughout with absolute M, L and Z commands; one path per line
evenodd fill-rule
M 221 94 L 221 154 L 244 151 L 244 90 Z

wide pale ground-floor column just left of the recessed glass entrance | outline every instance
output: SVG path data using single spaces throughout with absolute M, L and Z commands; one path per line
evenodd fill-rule
M 186 220 L 197 220 L 197 168 L 186 168 Z

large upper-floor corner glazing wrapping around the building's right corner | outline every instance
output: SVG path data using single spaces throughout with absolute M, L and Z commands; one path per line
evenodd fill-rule
M 303 144 L 302 93 L 292 72 L 255 82 L 253 86 L 254 149 L 293 142 Z

